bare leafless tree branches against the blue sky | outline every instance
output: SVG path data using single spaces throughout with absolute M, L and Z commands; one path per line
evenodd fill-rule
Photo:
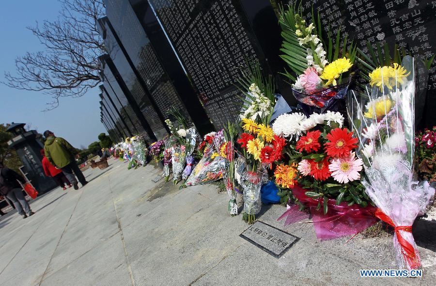
M 5 72 L 7 86 L 44 91 L 52 96 L 47 110 L 60 97 L 84 95 L 100 83 L 98 56 L 105 53 L 96 20 L 104 16 L 103 0 L 60 0 L 55 21 L 28 27 L 45 51 L 27 52 L 16 59 L 16 73 Z

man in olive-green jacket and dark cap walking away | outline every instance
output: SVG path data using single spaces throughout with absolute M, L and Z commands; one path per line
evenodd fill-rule
M 44 144 L 44 153 L 47 160 L 57 168 L 62 169 L 68 181 L 73 184 L 74 190 L 78 190 L 78 181 L 73 172 L 82 187 L 88 184 L 74 159 L 75 155 L 78 156 L 76 149 L 65 139 L 56 137 L 50 130 L 44 131 L 44 137 L 47 138 Z

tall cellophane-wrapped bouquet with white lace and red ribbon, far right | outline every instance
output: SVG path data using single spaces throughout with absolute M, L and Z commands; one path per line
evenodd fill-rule
M 435 193 L 413 173 L 414 107 L 422 100 L 422 85 L 416 85 L 416 77 L 423 76 L 419 64 L 406 56 L 401 65 L 375 69 L 366 91 L 351 92 L 347 107 L 359 138 L 358 156 L 364 161 L 362 184 L 378 207 L 376 216 L 394 227 L 397 264 L 408 270 L 421 267 L 411 226 Z

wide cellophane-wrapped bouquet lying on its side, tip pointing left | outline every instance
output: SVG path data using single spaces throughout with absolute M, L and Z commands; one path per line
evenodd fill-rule
M 213 146 L 206 147 L 202 159 L 187 178 L 186 186 L 204 185 L 222 178 L 225 159 L 214 157 L 214 154 L 216 152 Z

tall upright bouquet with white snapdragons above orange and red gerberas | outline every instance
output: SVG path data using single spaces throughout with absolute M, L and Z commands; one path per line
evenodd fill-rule
M 255 215 L 260 211 L 260 189 L 264 183 L 265 166 L 281 158 L 281 142 L 274 136 L 269 126 L 274 112 L 276 99 L 272 77 L 265 78 L 259 63 L 249 64 L 249 73 L 239 80 L 246 90 L 245 104 L 241 110 L 241 127 L 244 130 L 239 135 L 239 154 L 245 159 L 246 170 L 241 174 L 241 185 L 244 191 L 243 219 L 248 223 L 255 221 Z

